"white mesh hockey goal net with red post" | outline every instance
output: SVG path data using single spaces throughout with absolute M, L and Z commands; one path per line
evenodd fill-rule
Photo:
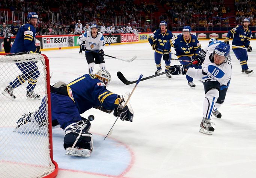
M 22 64 L 28 63 L 32 67 L 23 68 Z M 15 99 L 6 94 L 6 87 L 10 85 L 14 88 L 12 94 Z M 28 90 L 40 95 L 40 98 L 28 100 Z M 19 120 L 26 114 L 33 115 L 40 107 L 45 108 L 40 114 L 41 123 L 36 124 L 34 130 L 25 127 L 17 132 Z M 58 165 L 53 161 L 52 152 L 50 108 L 47 56 L 0 55 L 0 177 L 57 176 Z M 29 121 L 31 120 L 25 120 L 23 123 L 27 124 Z

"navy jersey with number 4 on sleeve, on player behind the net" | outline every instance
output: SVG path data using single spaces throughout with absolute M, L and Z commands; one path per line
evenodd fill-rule
M 33 51 L 36 52 L 36 29 L 33 25 L 27 23 L 20 27 L 14 43 L 11 48 L 11 53 Z

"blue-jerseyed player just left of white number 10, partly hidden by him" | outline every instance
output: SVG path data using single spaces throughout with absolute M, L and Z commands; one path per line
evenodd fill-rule
M 200 55 L 201 52 L 201 44 L 197 37 L 191 34 L 190 26 L 184 26 L 182 29 L 182 34 L 179 34 L 177 37 L 169 40 L 164 46 L 164 59 L 169 59 L 169 52 L 171 51 L 171 47 L 173 47 L 176 51 L 176 56 L 179 60 L 188 60 L 193 61 L 196 55 Z M 190 62 L 179 61 L 182 65 L 187 65 Z M 196 69 L 201 69 L 201 66 L 192 65 L 186 67 L 186 69 L 194 67 Z M 193 78 L 186 75 L 188 85 L 191 88 L 195 88 L 196 85 L 193 82 Z

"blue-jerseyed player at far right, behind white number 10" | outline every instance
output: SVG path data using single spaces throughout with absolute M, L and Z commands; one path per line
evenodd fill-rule
M 247 61 L 248 61 L 248 52 L 252 51 L 250 46 L 251 41 L 251 30 L 248 28 L 250 23 L 250 19 L 245 18 L 242 25 L 237 25 L 235 28 L 232 28 L 228 33 L 226 38 L 224 39 L 224 43 L 229 44 L 229 38 L 233 37 L 232 45 L 245 47 L 246 49 L 241 49 L 235 46 L 232 46 L 233 52 L 236 55 L 236 58 L 240 61 L 242 67 L 242 73 L 251 76 L 253 74 L 253 70 L 248 69 Z

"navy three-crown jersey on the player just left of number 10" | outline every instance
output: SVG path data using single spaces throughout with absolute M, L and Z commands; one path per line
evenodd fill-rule
M 164 50 L 170 51 L 171 46 L 175 48 L 176 56 L 182 57 L 182 56 L 194 56 L 195 54 L 198 54 L 199 51 L 201 51 L 201 44 L 197 37 L 193 34 L 191 34 L 189 40 L 185 40 L 182 34 L 179 34 L 177 37 L 169 40 Z

